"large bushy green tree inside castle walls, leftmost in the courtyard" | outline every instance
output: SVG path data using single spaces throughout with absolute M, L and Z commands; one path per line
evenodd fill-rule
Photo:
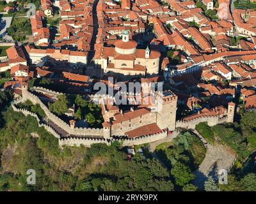
M 54 103 L 48 103 L 49 110 L 56 113 L 57 115 L 63 115 L 68 110 L 68 100 L 65 94 L 61 94 L 57 97 L 57 100 Z

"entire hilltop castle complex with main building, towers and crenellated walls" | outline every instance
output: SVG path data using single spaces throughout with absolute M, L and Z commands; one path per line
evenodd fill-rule
M 47 131 L 58 138 L 60 147 L 63 145 L 90 147 L 92 143 L 111 144 L 116 141 L 122 142 L 124 146 L 140 145 L 155 142 L 167 136 L 174 138 L 178 135 L 177 128 L 194 129 L 199 122 L 208 122 L 209 126 L 233 122 L 236 106 L 235 103 L 228 103 L 228 109 L 223 106 L 213 109 L 204 108 L 201 112 L 184 117 L 182 120 L 176 120 L 177 96 L 171 91 L 156 92 L 154 103 L 132 105 L 131 109 L 126 111 L 115 104 L 115 98 L 98 96 L 104 117 L 103 128 L 77 128 L 75 120 L 70 120 L 70 124 L 67 124 L 51 113 L 40 98 L 28 90 L 28 84 L 22 84 L 21 89 L 22 96 L 12 103 L 13 110 L 36 117 L 40 126 L 44 126 Z M 42 87 L 33 87 L 31 90 L 60 94 Z M 34 105 L 40 105 L 45 112 L 46 119 L 40 120 L 35 113 L 16 108 L 16 104 L 27 99 Z

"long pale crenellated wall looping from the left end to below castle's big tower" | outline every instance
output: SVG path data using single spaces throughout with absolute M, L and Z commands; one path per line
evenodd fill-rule
M 42 101 L 32 94 L 29 91 L 22 90 L 23 96 L 20 98 L 17 98 L 12 103 L 12 108 L 16 112 L 22 112 L 24 115 L 31 115 L 36 118 L 38 121 L 38 125 L 40 127 L 44 127 L 47 131 L 52 133 L 56 138 L 59 140 L 59 146 L 62 147 L 63 145 L 68 146 L 79 146 L 84 145 L 85 147 L 90 147 L 92 143 L 106 143 L 107 145 L 110 145 L 112 142 L 122 142 L 123 146 L 129 146 L 129 145 L 141 145 L 143 143 L 150 143 L 155 142 L 157 140 L 161 140 L 163 138 L 166 138 L 168 136 L 168 131 L 161 131 L 160 133 L 155 133 L 152 135 L 143 135 L 136 138 L 103 138 L 103 129 L 100 128 L 70 128 L 70 126 L 58 118 L 56 115 L 51 113 L 47 106 L 42 103 Z M 44 110 L 45 115 L 49 120 L 54 122 L 57 126 L 59 126 L 61 129 L 67 131 L 69 135 L 76 135 L 76 136 L 68 136 L 68 137 L 62 137 L 58 133 L 56 129 L 54 129 L 52 126 L 49 126 L 48 124 L 45 124 L 44 121 L 40 121 L 38 115 L 33 112 L 29 112 L 26 109 L 23 108 L 17 108 L 15 104 L 22 103 L 29 99 L 34 105 L 39 104 L 41 108 Z

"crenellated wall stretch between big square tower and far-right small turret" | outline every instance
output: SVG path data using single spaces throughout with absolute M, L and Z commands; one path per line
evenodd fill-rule
M 186 128 L 186 129 L 195 129 L 196 124 L 200 122 L 207 122 L 209 126 L 215 126 L 223 122 L 227 122 L 228 117 L 220 118 L 219 115 L 216 116 L 206 116 L 206 117 L 196 117 L 191 120 L 177 120 L 176 128 Z

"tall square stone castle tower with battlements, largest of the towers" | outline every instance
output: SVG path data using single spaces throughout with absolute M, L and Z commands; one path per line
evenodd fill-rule
M 177 99 L 171 91 L 156 92 L 156 122 L 159 128 L 175 129 Z

